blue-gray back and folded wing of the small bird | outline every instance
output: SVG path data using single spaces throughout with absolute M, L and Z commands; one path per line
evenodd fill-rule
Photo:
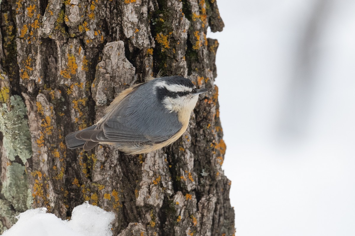
M 152 88 L 135 87 L 118 103 L 110 105 L 107 115 L 97 123 L 93 142 L 161 143 L 182 128 L 176 113 L 170 113 L 156 98 Z

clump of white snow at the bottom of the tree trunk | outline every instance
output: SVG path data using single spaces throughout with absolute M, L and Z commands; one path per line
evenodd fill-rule
M 45 207 L 29 209 L 17 218 L 3 236 L 111 236 L 115 214 L 84 202 L 73 209 L 70 220 L 47 213 Z

